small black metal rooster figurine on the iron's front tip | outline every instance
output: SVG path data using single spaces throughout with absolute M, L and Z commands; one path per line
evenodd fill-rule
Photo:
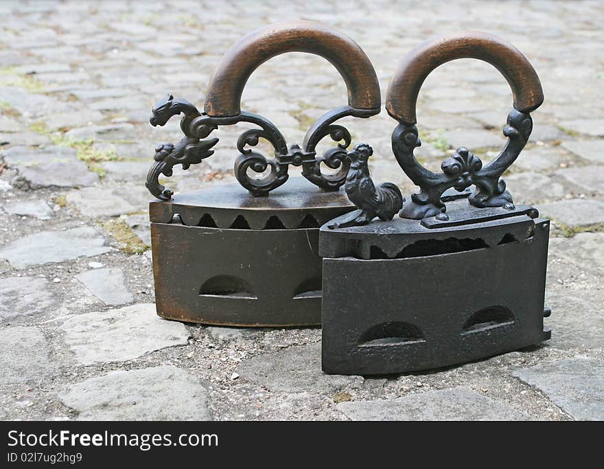
M 358 144 L 346 155 L 350 168 L 346 176 L 346 194 L 358 210 L 347 218 L 328 225 L 330 229 L 367 225 L 377 216 L 380 220 L 392 220 L 403 207 L 403 198 L 399 188 L 393 183 L 383 183 L 375 187 L 367 161 L 373 155 L 373 148 L 367 144 Z

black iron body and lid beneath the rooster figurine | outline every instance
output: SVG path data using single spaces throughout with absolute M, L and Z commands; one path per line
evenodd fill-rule
M 403 373 L 550 338 L 549 220 L 532 207 L 477 209 L 466 198 L 448 203 L 448 214 L 321 227 L 324 371 Z

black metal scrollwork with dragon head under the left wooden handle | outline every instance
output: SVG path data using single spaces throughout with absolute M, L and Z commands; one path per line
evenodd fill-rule
M 147 175 L 146 187 L 161 200 L 170 200 L 173 192 L 159 183 L 159 176 L 161 174 L 171 176 L 174 165 L 182 164 L 183 169 L 186 170 L 191 164 L 200 163 L 202 159 L 211 156 L 213 150 L 210 149 L 218 143 L 218 139 L 207 139 L 209 134 L 218 126 L 237 122 L 249 122 L 259 126 L 244 131 L 237 139 L 237 150 L 240 151 L 240 155 L 235 159 L 234 165 L 237 181 L 252 195 L 264 196 L 285 183 L 288 179 L 289 165 L 301 166 L 303 176 L 318 187 L 325 190 L 338 190 L 345 182 L 349 168 L 346 154 L 351 136 L 345 127 L 333 123 L 347 115 L 369 117 L 374 115 L 376 110 L 365 111 L 342 106 L 326 113 L 308 130 L 302 148 L 296 144 L 288 147 L 286 139 L 275 124 L 261 115 L 242 111 L 233 117 L 210 117 L 200 113 L 187 100 L 174 98 L 172 95 L 168 95 L 156 104 L 152 110 L 150 124 L 164 126 L 171 117 L 181 113 L 184 114 L 181 130 L 185 137 L 178 144 L 159 145 L 156 148 L 156 163 Z M 327 135 L 340 143 L 316 158 L 316 145 Z M 265 157 L 248 148 L 256 146 L 261 138 L 272 145 L 274 158 Z M 334 174 L 323 174 L 321 163 L 337 171 Z

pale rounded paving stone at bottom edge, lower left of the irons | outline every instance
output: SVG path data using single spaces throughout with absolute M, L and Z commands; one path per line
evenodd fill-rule
M 78 420 L 211 420 L 205 385 L 174 366 L 111 371 L 59 398 Z

